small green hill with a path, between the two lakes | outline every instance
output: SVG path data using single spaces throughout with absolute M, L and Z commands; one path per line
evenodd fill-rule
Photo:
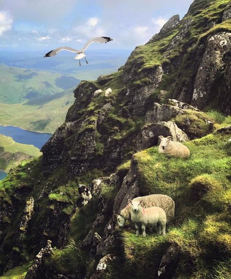
M 11 137 L 0 135 L 0 169 L 9 170 L 22 160 L 41 155 L 34 145 L 15 142 Z

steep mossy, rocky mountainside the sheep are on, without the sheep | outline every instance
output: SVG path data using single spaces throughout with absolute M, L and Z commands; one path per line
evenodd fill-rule
M 229 0 L 194 0 L 117 72 L 81 81 L 43 155 L 0 181 L 3 278 L 229 279 L 230 81 Z M 159 136 L 190 158 L 158 154 Z M 164 237 L 116 224 L 149 194 L 175 202 Z

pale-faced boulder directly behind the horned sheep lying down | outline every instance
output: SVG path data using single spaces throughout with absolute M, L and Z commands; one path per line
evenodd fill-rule
M 187 135 L 172 122 L 157 122 L 146 125 L 135 139 L 135 152 L 157 145 L 158 136 L 172 136 L 173 141 L 186 141 Z

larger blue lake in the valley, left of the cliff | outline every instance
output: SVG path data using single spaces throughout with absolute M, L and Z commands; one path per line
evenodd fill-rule
M 20 129 L 19 127 L 2 126 L 2 125 L 0 125 L 0 134 L 5 135 L 7 137 L 12 137 L 13 140 L 19 143 L 33 144 L 39 149 L 41 149 L 41 147 L 52 136 L 51 133 L 31 132 L 31 131 Z

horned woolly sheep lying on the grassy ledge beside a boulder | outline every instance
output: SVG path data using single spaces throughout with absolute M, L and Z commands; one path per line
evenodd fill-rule
M 161 140 L 158 148 L 158 152 L 160 154 L 166 154 L 168 156 L 179 158 L 190 157 L 189 148 L 180 142 L 172 141 L 173 137 L 169 136 L 164 138 L 163 136 L 159 136 L 158 138 Z

